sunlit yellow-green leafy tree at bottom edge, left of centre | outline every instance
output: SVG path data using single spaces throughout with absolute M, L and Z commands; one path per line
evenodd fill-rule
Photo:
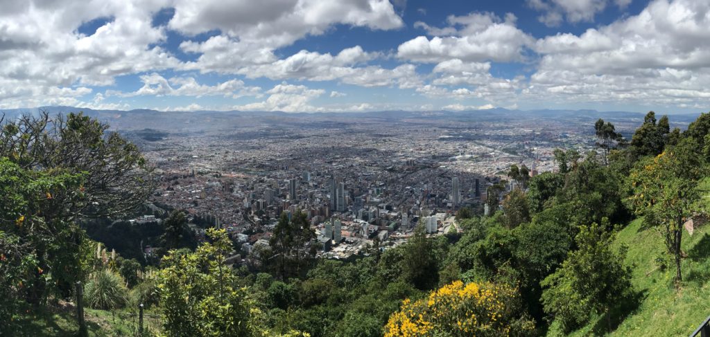
M 226 265 L 232 251 L 224 230 L 207 229 L 212 243 L 195 253 L 170 251 L 158 276 L 163 329 L 168 336 L 252 336 L 246 290 Z

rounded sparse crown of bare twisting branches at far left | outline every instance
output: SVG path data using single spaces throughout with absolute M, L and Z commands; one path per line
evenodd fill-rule
M 53 195 L 65 215 L 124 215 L 153 192 L 151 169 L 138 147 L 107 132 L 109 125 L 97 119 L 82 113 L 50 118 L 43 112 L 38 117 L 0 118 L 0 125 L 0 157 L 23 169 L 84 173 L 84 198 Z

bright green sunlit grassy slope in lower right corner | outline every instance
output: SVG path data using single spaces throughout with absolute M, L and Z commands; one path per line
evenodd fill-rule
M 595 317 L 571 336 L 688 336 L 710 315 L 710 224 L 690 236 L 683 232 L 682 249 L 687 254 L 682 263 L 683 282 L 673 287 L 674 267 L 661 270 L 656 259 L 663 256 L 665 245 L 657 229 L 644 228 L 636 219 L 616 238 L 626 244 L 626 263 L 633 266 L 633 286 L 638 305 L 615 313 L 616 329 L 606 333 L 606 319 Z M 618 326 L 617 326 L 618 325 Z M 553 323 L 549 336 L 562 336 L 559 324 Z

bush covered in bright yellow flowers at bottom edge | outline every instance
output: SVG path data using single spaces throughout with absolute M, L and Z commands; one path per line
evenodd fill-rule
M 415 302 L 405 299 L 385 326 L 386 337 L 508 336 L 531 332 L 516 315 L 517 289 L 492 283 L 454 281 Z

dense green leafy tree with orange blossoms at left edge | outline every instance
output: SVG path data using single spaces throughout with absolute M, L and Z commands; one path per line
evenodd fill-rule
M 70 205 L 63 204 L 82 202 L 83 181 L 81 174 L 31 171 L 0 157 L 0 269 L 8 273 L 0 280 L 17 282 L 4 284 L 16 295 L 4 299 L 24 294 L 37 306 L 51 292 L 69 295 L 73 283 L 87 275 L 80 261 L 85 234 L 67 219 Z

